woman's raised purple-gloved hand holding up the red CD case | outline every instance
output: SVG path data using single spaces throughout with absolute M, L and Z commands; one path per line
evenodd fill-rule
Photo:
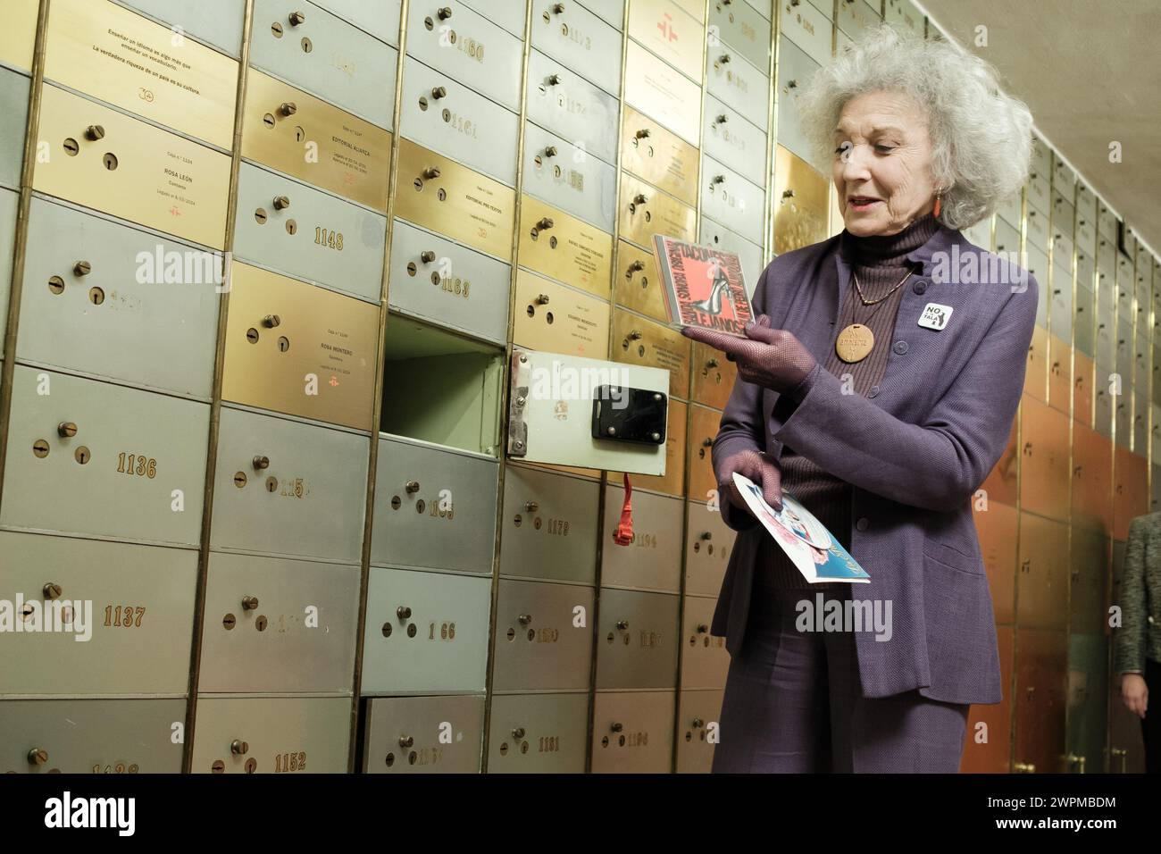
M 724 351 L 737 363 L 738 376 L 779 394 L 795 388 L 817 364 L 793 332 L 771 329 L 766 315 L 747 325 L 745 338 L 700 326 L 685 326 L 682 335 Z

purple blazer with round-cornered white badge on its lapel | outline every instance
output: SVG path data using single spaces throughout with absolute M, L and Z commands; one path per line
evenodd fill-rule
M 940 227 L 908 254 L 923 270 L 903 286 L 882 380 L 865 396 L 844 394 L 823 363 L 850 287 L 849 239 L 843 231 L 786 252 L 762 272 L 755 315 L 798 336 L 819 365 L 784 395 L 734 383 L 714 439 L 714 472 L 720 482 L 722 460 L 743 448 L 777 460 L 785 444 L 851 485 L 851 554 L 871 574 L 851 596 L 892 603 L 889 640 L 854 632 L 865 696 L 918 689 L 950 703 L 998 703 L 995 617 L 972 498 L 1008 444 L 1038 286 Z M 972 274 L 965 265 L 973 261 L 990 261 L 976 267 L 989 274 Z M 929 302 L 952 309 L 942 329 L 918 325 Z M 721 511 L 738 536 L 711 632 L 736 655 L 758 545 L 769 534 L 728 500 Z

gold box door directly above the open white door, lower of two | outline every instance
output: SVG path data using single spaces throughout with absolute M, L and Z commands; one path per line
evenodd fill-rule
M 547 353 L 605 359 L 608 303 L 527 270 L 515 273 L 512 343 Z

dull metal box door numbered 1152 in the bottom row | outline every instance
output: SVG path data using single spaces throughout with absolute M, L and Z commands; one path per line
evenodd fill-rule
M 345 774 L 351 697 L 199 697 L 195 774 Z

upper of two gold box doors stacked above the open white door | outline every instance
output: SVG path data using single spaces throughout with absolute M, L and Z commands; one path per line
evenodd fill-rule
M 520 202 L 517 259 L 538 273 L 608 300 L 613 236 L 527 194 Z

